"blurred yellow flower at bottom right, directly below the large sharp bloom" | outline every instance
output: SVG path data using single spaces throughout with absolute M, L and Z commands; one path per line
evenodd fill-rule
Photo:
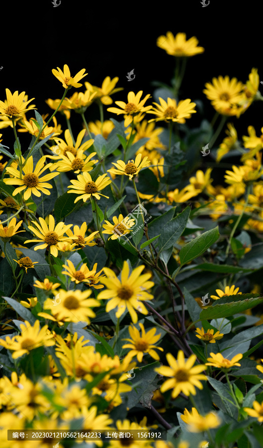
M 207 431 L 210 428 L 217 428 L 221 420 L 214 412 L 209 412 L 205 416 L 198 414 L 196 408 L 192 408 L 192 412 L 187 409 L 184 411 L 184 415 L 181 415 L 181 419 L 188 425 L 188 431 L 191 433 L 199 433 Z

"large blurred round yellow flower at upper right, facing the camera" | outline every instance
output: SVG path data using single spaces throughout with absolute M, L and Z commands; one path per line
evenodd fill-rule
M 242 101 L 242 90 L 244 88 L 237 78 L 229 79 L 229 76 L 219 76 L 212 79 L 212 84 L 206 83 L 203 93 L 214 109 L 223 115 L 236 115 L 239 112 L 238 104 Z

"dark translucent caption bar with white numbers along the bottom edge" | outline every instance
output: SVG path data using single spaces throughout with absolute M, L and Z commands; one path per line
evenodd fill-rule
M 7 430 L 7 440 L 45 440 L 45 441 L 55 441 L 55 440 L 90 440 L 90 441 L 109 441 L 111 439 L 120 440 L 167 440 L 166 431 L 141 431 L 130 430 L 130 431 L 34 431 L 34 430 L 24 430 L 15 431 Z

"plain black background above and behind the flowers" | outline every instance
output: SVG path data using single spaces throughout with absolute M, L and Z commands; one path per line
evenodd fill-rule
M 207 0 L 206 0 L 207 2 Z M 244 6 L 242 6 L 244 4 Z M 143 96 L 153 93 L 154 80 L 170 84 L 174 75 L 175 58 L 156 46 L 156 39 L 167 31 L 174 35 L 185 32 L 187 39 L 196 36 L 204 53 L 188 58 L 186 75 L 179 99 L 201 99 L 204 117 L 210 120 L 214 109 L 202 93 L 204 84 L 219 75 L 237 77 L 243 83 L 252 67 L 258 68 L 263 80 L 261 30 L 261 2 L 242 3 L 236 0 L 210 0 L 202 7 L 199 0 L 182 2 L 88 2 L 61 0 L 54 7 L 51 0 L 4 2 L 1 15 L 0 100 L 5 99 L 5 88 L 11 93 L 25 91 L 38 112 L 51 113 L 45 100 L 61 98 L 62 84 L 53 76 L 52 69 L 64 64 L 71 75 L 82 68 L 88 75 L 84 81 L 101 86 L 106 76 L 118 76 L 117 87 L 123 92 L 113 100 L 127 101 L 130 90 Z M 126 75 L 134 69 L 135 79 L 128 82 Z M 263 85 L 259 87 L 263 93 Z M 72 95 L 76 91 L 72 88 Z M 147 105 L 151 104 L 148 100 Z M 113 105 L 114 106 L 114 105 Z M 106 109 L 106 108 L 105 108 Z M 253 105 L 234 124 L 241 135 L 248 134 L 253 124 L 260 135 L 262 103 Z M 87 110 L 87 120 L 99 119 L 94 105 Z M 189 121 L 198 126 L 195 114 Z M 104 119 L 109 118 L 105 110 Z M 27 114 L 27 118 L 30 116 Z M 57 116 L 63 129 L 66 121 Z M 115 116 L 121 120 L 121 117 Z M 80 117 L 72 113 L 73 129 L 82 128 Z M 163 122 L 160 123 L 164 125 Z M 0 130 L 3 144 L 12 129 Z M 20 134 L 21 135 L 21 134 Z M 25 135 L 25 134 L 24 134 Z M 221 136 L 225 136 L 224 132 Z

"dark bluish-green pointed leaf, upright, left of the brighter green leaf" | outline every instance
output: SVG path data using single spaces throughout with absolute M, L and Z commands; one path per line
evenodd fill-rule
M 164 225 L 158 242 L 159 251 L 169 249 L 180 238 L 186 228 L 190 212 L 191 207 L 188 206 L 182 213 Z

